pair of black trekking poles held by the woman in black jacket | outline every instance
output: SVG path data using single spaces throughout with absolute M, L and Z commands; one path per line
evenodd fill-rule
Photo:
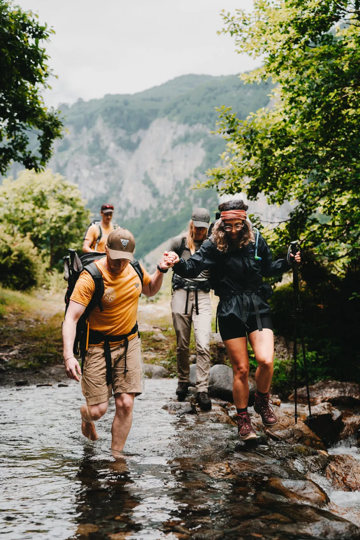
M 304 341 L 304 333 L 303 333 L 303 326 L 302 326 L 302 306 L 300 301 L 300 288 L 299 288 L 299 278 L 298 278 L 298 265 L 295 261 L 295 255 L 299 251 L 299 246 L 297 243 L 297 240 L 294 242 L 291 242 L 290 244 L 290 251 L 294 255 L 294 259 L 291 261 L 293 265 L 293 288 L 294 288 L 294 311 L 293 311 L 293 318 L 294 318 L 294 401 L 295 401 L 295 424 L 297 423 L 297 323 L 300 330 L 300 340 L 301 340 L 301 348 L 302 348 L 302 356 L 304 361 L 304 372 L 305 372 L 305 385 L 306 385 L 306 392 L 308 397 L 308 406 L 309 406 L 309 416 L 307 417 L 308 420 L 311 420 L 313 418 L 313 415 L 311 415 L 311 404 L 310 404 L 310 392 L 309 392 L 309 378 L 308 378 L 308 366 L 307 366 L 307 360 L 306 360 L 306 352 L 305 352 L 305 341 Z

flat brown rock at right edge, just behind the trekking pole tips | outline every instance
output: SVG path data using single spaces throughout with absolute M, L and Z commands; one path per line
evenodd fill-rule
M 355 382 L 320 381 L 309 387 L 310 402 L 314 405 L 329 401 L 331 404 L 360 403 L 360 385 Z M 299 402 L 307 402 L 306 387 L 297 391 Z M 294 393 L 289 396 L 294 401 Z

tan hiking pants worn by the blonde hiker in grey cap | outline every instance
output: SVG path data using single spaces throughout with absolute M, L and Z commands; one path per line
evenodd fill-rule
M 189 343 L 191 323 L 196 342 L 196 392 L 207 392 L 210 372 L 211 301 L 210 294 L 198 291 L 199 315 L 195 311 L 195 291 L 189 291 L 187 314 L 186 291 L 173 292 L 171 311 L 176 332 L 176 361 L 179 382 L 189 382 Z

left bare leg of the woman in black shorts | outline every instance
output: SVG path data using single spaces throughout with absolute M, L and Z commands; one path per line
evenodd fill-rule
M 246 338 L 224 341 L 234 370 L 233 396 L 237 409 L 248 406 L 249 399 L 249 357 Z

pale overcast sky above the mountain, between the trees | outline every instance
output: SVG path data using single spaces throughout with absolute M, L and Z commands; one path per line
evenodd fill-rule
M 52 91 L 46 104 L 135 93 L 188 73 L 230 75 L 255 67 L 218 36 L 222 9 L 252 0 L 19 0 L 56 35 L 46 50 Z M 259 64 L 257 60 L 256 65 Z

